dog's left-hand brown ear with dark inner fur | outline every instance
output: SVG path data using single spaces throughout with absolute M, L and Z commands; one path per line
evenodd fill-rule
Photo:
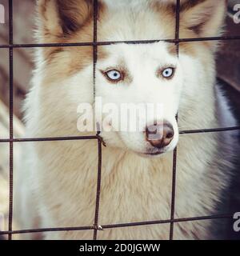
M 93 16 L 93 0 L 38 0 L 38 30 L 43 36 L 71 34 Z

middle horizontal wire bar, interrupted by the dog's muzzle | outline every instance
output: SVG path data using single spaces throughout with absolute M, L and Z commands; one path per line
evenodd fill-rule
M 215 129 L 201 129 L 201 130 L 180 130 L 179 134 L 203 134 L 203 133 L 214 133 L 214 132 L 224 132 L 240 130 L 240 126 L 234 127 L 224 127 Z M 72 136 L 72 137 L 50 137 L 50 138 L 1 138 L 0 143 L 7 142 L 56 142 L 56 141 L 78 141 L 78 140 L 88 140 L 88 139 L 98 139 L 98 136 Z

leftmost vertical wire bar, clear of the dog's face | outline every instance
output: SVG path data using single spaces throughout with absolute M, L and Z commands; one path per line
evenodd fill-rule
M 9 222 L 8 230 L 13 230 L 13 183 L 14 183 L 14 49 L 12 47 L 14 41 L 13 37 L 13 1 L 9 1 L 9 72 L 10 72 L 10 93 L 9 93 L 9 104 L 10 104 L 10 184 L 9 184 Z M 8 235 L 8 239 L 12 239 L 12 234 Z

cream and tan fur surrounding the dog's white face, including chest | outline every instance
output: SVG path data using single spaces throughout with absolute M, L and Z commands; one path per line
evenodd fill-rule
M 70 27 L 62 26 L 59 22 L 54 2 L 39 2 L 39 41 L 92 42 L 93 22 L 87 18 L 87 15 L 91 17 L 92 14 L 87 4 L 89 1 L 71 1 L 71 4 L 82 3 L 83 6 L 79 6 L 80 16 L 78 10 L 66 11 L 65 14 L 70 15 L 71 22 L 74 22 L 74 26 Z M 66 1 L 59 2 L 62 2 L 59 8 L 70 7 L 65 5 Z M 158 2 L 160 3 L 142 3 L 137 9 L 119 8 L 117 11 L 100 5 L 98 41 L 174 38 L 174 7 L 166 6 L 166 1 Z M 218 27 L 222 25 L 225 1 L 219 2 L 221 3 L 216 5 L 214 1 L 206 0 L 196 6 L 184 8 L 180 36 L 188 38 L 217 35 Z M 215 10 L 213 6 L 220 6 L 220 9 Z M 197 25 L 192 15 L 208 8 L 214 11 L 214 16 L 210 18 L 203 15 L 202 18 L 200 12 L 205 23 L 201 30 L 198 30 L 201 34 L 196 34 L 196 30 L 190 30 L 190 26 Z M 221 18 L 217 18 L 217 14 Z M 220 126 L 215 117 L 213 44 L 180 44 L 180 60 L 184 58 L 188 64 L 194 63 L 189 64 L 189 70 L 186 70 L 185 74 L 179 109 L 181 129 Z M 112 54 L 111 49 L 111 46 L 98 46 L 98 60 L 108 58 Z M 174 53 L 173 44 L 169 44 L 168 50 Z M 38 51 L 34 86 L 26 101 L 29 137 L 79 135 L 76 127 L 77 102 L 84 101 L 89 91 L 93 92 L 92 58 L 91 46 Z M 199 78 L 191 80 L 191 69 L 198 68 L 201 68 Z M 72 77 L 76 78 L 74 85 L 69 80 Z M 189 100 L 186 101 L 186 98 Z M 92 95 L 90 102 L 93 100 Z M 202 111 L 206 113 L 202 114 Z M 117 140 L 118 136 L 114 139 Z M 214 212 L 219 194 L 228 183 L 228 178 L 221 168 L 230 165 L 224 158 L 223 150 L 218 152 L 219 141 L 218 134 L 183 135 L 180 138 L 175 218 L 209 215 Z M 142 158 L 127 147 L 118 148 L 108 146 L 108 142 L 106 144 L 107 146 L 102 148 L 99 224 L 169 219 L 173 154 L 167 153 L 162 158 Z M 18 199 L 18 202 L 23 200 L 24 208 L 30 208 L 34 213 L 31 213 L 30 219 L 26 221 L 26 214 L 23 214 L 25 210 L 22 210 L 22 217 L 19 217 L 22 218 L 22 228 L 36 227 L 38 216 L 41 222 L 38 222 L 37 227 L 92 226 L 98 170 L 97 142 L 39 142 L 26 145 L 26 152 L 27 157 L 20 175 L 26 178 L 18 182 L 18 191 L 26 191 L 18 195 L 27 194 L 31 198 Z M 222 162 L 215 162 L 218 158 L 221 158 Z M 21 206 L 18 206 L 19 212 L 21 209 Z M 174 238 L 210 238 L 210 224 L 201 221 L 178 223 L 174 228 Z M 125 227 L 99 231 L 98 238 L 168 239 L 169 230 L 169 223 Z M 44 238 L 91 239 L 92 236 L 93 230 L 48 233 Z

